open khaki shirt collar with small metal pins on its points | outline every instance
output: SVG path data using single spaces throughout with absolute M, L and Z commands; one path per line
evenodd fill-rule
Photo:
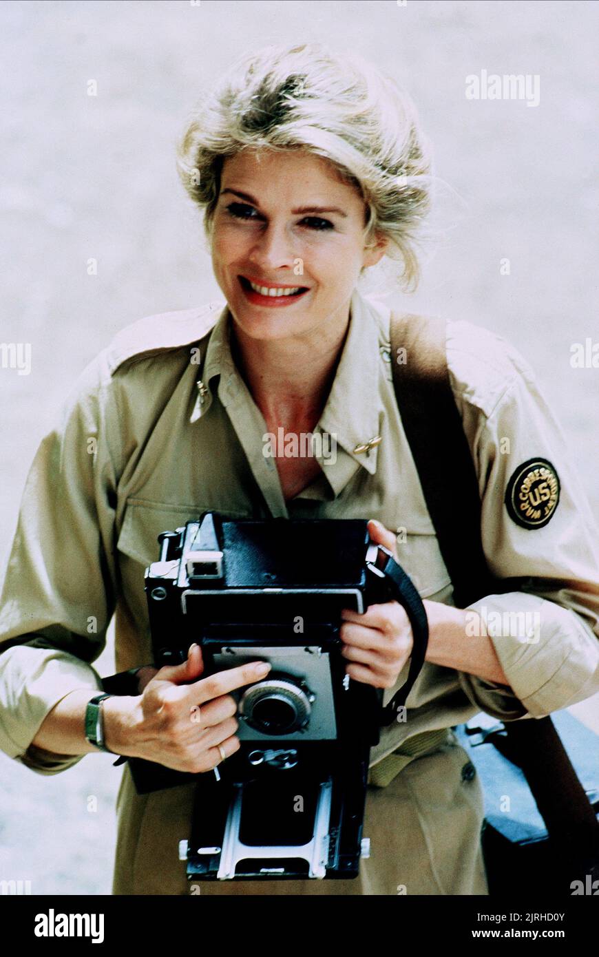
M 323 470 L 335 493 L 344 487 L 359 466 L 370 475 L 376 472 L 378 445 L 368 446 L 380 434 L 383 403 L 380 397 L 381 335 L 375 304 L 356 289 L 350 300 L 350 321 L 342 356 L 317 426 L 328 433 L 337 456 L 323 460 Z M 233 322 L 225 303 L 214 324 L 204 361 L 202 379 L 191 422 L 208 412 L 218 377 L 218 397 L 226 407 L 246 391 L 231 353 L 230 328 Z M 365 448 L 366 446 L 366 448 Z M 330 448 L 330 446 L 329 446 Z

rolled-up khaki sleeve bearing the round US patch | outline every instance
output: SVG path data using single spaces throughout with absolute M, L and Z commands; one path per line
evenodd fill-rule
M 459 673 L 469 699 L 501 720 L 540 718 L 599 691 L 598 529 L 566 437 L 532 370 L 518 359 L 495 409 L 481 417 L 475 457 L 488 564 L 499 578 L 521 582 L 519 590 L 469 606 L 493 641 L 509 687 Z M 550 515 L 544 524 L 525 511 L 526 470 L 537 459 L 559 483 L 557 505 L 544 490 Z M 553 478 L 549 485 L 553 494 Z

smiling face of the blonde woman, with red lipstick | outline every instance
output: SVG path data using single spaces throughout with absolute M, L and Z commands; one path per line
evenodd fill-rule
M 366 248 L 365 213 L 357 189 L 307 151 L 228 157 L 212 268 L 242 335 L 275 340 L 344 327 L 361 269 L 385 253 L 385 241 Z

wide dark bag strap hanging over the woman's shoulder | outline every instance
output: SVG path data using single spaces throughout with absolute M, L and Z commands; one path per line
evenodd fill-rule
M 445 321 L 391 313 L 389 338 L 402 425 L 456 606 L 517 589 L 517 579 L 492 575 L 482 547 L 477 472 L 455 404 Z M 553 843 L 578 866 L 597 866 L 599 824 L 551 719 L 511 721 L 505 729 Z

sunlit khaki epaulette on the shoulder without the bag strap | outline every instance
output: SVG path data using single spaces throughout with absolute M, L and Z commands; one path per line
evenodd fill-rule
M 225 304 L 224 300 L 215 300 L 195 309 L 145 316 L 136 323 L 126 325 L 106 350 L 110 374 L 114 375 L 127 362 L 203 339 L 217 322 Z

